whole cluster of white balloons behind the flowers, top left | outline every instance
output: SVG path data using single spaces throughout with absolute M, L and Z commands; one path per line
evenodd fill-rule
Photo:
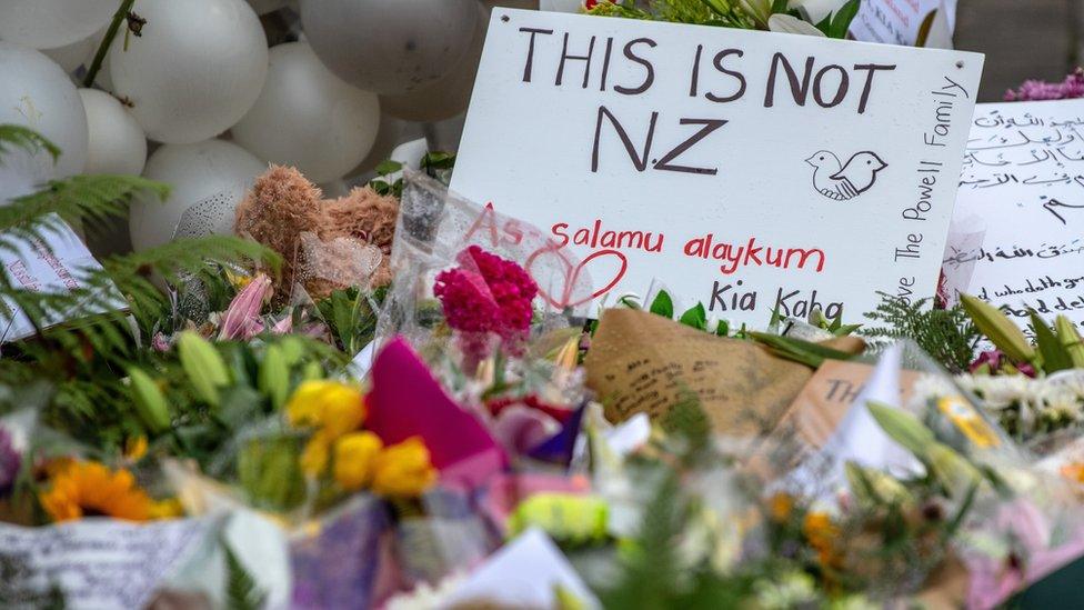
M 0 0 L 0 123 L 56 142 L 54 177 L 141 173 L 173 184 L 164 204 L 132 207 L 141 250 L 168 241 L 185 209 L 243 190 L 268 163 L 337 181 L 388 154 L 398 119 L 461 113 L 492 2 L 138 0 L 147 22 L 141 36 L 113 40 L 97 79 L 108 92 L 77 89 L 72 74 L 89 67 L 121 3 Z M 260 16 L 288 6 L 301 39 L 268 49 Z

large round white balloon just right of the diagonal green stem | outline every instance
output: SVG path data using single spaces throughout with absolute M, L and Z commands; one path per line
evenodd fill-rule
M 184 144 L 222 133 L 252 108 L 268 42 L 244 0 L 141 0 L 143 36 L 109 51 L 113 92 L 152 140 Z

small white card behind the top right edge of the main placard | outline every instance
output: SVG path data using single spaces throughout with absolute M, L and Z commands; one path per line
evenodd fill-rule
M 956 27 L 956 0 L 862 0 L 851 22 L 851 36 L 866 42 L 913 47 L 924 23 L 930 32 L 926 47 L 951 44 Z M 930 44 L 932 40 L 939 44 Z

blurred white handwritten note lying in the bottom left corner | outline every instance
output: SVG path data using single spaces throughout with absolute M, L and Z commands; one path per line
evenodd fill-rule
M 0 524 L 0 607 L 42 608 L 56 589 L 67 608 L 143 608 L 209 528 L 194 519 Z

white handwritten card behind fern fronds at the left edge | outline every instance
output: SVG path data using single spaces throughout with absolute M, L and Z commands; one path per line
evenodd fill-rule
M 18 252 L 0 250 L 0 264 L 3 264 L 14 286 L 34 292 L 71 291 L 83 286 L 89 271 L 101 269 L 79 236 L 67 224 L 48 231 L 43 237 L 46 241 L 18 243 Z M 117 308 L 124 307 L 120 294 L 116 300 Z M 47 320 L 46 326 L 61 323 L 64 319 L 60 316 Z M 17 341 L 33 333 L 33 324 L 26 313 L 7 299 L 0 299 L 0 342 Z

